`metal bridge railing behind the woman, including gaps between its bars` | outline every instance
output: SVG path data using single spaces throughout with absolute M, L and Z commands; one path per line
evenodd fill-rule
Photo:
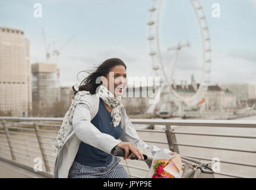
M 52 156 L 50 143 L 58 134 L 63 118 L 14 118 L 0 117 L 0 159 L 21 164 L 31 169 L 37 168 L 42 163 L 42 174 L 53 175 L 55 156 Z M 232 178 L 255 178 L 256 173 L 256 122 L 255 121 L 230 121 L 230 120 L 172 120 L 172 119 L 131 119 L 136 125 L 162 125 L 163 130 L 136 128 L 140 138 L 148 145 L 154 144 L 160 148 L 169 148 L 171 151 L 181 153 L 184 156 L 193 157 L 202 161 L 214 162 L 212 156 L 198 156 L 200 153 L 206 155 L 240 155 L 251 157 L 252 162 L 244 159 L 237 161 L 239 156 L 230 156 L 232 159 L 220 159 L 221 164 L 228 164 L 226 171 L 216 171 L 218 177 Z M 195 128 L 197 130 L 194 130 Z M 198 128 L 207 132 L 197 132 Z M 217 128 L 216 132 L 208 132 Z M 194 131 L 189 131 L 192 129 Z M 226 129 L 250 130 L 249 135 L 227 134 Z M 189 138 L 187 138 L 189 137 Z M 207 145 L 203 141 L 193 143 L 191 137 L 198 140 L 200 137 L 220 138 L 220 145 Z M 251 148 L 223 146 L 227 138 L 236 139 Z M 179 141 L 181 140 L 181 141 Z M 183 140 L 183 141 L 182 141 Z M 245 140 L 247 140 L 245 142 Z M 216 143 L 212 143 L 216 144 Z M 187 149 L 186 149 L 187 148 Z M 192 148 L 188 149 L 188 148 Z M 201 148 L 198 150 L 198 148 Z M 214 152 L 211 152 L 214 151 Z M 189 153 L 189 154 L 187 154 Z M 191 153 L 194 153 L 193 155 Z M 233 154 L 231 154 L 233 153 Z M 236 154 L 234 154 L 236 153 Z M 239 153 L 239 154 L 238 154 Z M 195 156 L 197 154 L 197 156 Z M 245 155 L 246 154 L 246 155 Z M 255 159 L 253 159 L 255 158 Z M 245 159 L 246 160 L 246 159 Z M 135 164 L 134 164 L 135 163 Z M 144 162 L 143 162 L 144 163 Z M 138 160 L 122 160 L 121 164 L 128 170 L 131 177 L 144 178 L 148 171 L 146 163 L 144 167 Z M 36 167 L 35 167 L 36 166 Z M 246 175 L 239 174 L 241 167 L 250 172 Z M 237 169 L 236 169 L 237 168 Z

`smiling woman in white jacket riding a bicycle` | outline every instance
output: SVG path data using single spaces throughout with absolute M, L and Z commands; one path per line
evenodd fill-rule
M 121 159 L 111 154 L 114 147 L 125 150 L 124 159 L 137 156 L 144 160 L 139 147 L 148 148 L 153 155 L 159 151 L 172 153 L 147 145 L 138 137 L 121 103 L 126 69 L 121 59 L 108 59 L 82 81 L 78 91 L 72 87 L 74 101 L 53 143 L 59 150 L 55 178 L 129 178 L 119 164 Z

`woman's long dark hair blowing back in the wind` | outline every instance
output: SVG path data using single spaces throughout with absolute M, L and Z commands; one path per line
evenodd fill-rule
M 96 94 L 96 88 L 100 84 L 102 84 L 102 82 L 97 84 L 96 79 L 102 75 L 104 77 L 107 77 L 107 74 L 109 73 L 110 69 L 112 69 L 116 65 L 122 65 L 125 67 L 125 70 L 127 69 L 127 66 L 121 59 L 111 58 L 107 59 L 102 64 L 97 66 L 94 71 L 86 71 L 87 73 L 89 73 L 89 76 L 84 78 L 84 80 L 80 83 L 78 90 L 75 90 L 74 85 L 72 86 L 74 96 L 78 91 L 81 90 L 90 91 L 90 94 Z

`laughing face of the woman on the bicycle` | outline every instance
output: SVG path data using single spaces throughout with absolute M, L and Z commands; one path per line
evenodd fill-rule
M 127 73 L 125 67 L 122 65 L 113 66 L 106 79 L 108 80 L 108 90 L 112 94 L 115 94 L 115 96 L 121 96 L 127 85 Z

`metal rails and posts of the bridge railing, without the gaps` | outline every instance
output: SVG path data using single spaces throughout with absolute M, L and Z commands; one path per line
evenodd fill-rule
M 17 122 L 14 122 L 16 120 Z M 53 160 L 46 159 L 45 156 L 50 156 L 54 157 L 50 154 L 45 153 L 46 150 L 50 151 L 50 148 L 45 147 L 45 145 L 42 146 L 42 144 L 50 145 L 50 142 L 46 142 L 44 138 L 49 138 L 53 139 L 55 137 L 49 137 L 46 135 L 39 135 L 39 132 L 49 132 L 49 133 L 58 133 L 58 131 L 53 131 L 53 130 L 47 130 L 47 129 L 40 129 L 39 126 L 49 126 L 49 127 L 60 127 L 61 125 L 59 124 L 40 124 L 39 121 L 49 121 L 49 122 L 62 122 L 63 118 L 19 118 L 19 117 L 0 117 L 0 121 L 2 121 L 2 125 L 6 124 L 5 127 L 1 126 L 0 122 L 0 128 L 3 130 L 0 130 L 0 132 L 4 134 L 0 134 L 0 137 L 4 137 L 1 140 L 5 140 L 3 142 L 5 143 L 0 143 L 0 145 L 4 145 L 5 147 L 0 146 L 0 152 L 4 154 L 9 154 L 12 157 L 13 162 L 17 162 L 15 160 L 15 157 L 20 158 L 20 159 L 26 159 L 31 162 L 30 159 L 27 157 L 23 156 L 18 156 L 14 153 L 18 154 L 24 154 L 28 155 L 29 157 L 35 156 L 34 154 L 31 153 L 24 153 L 21 151 L 13 150 L 13 148 L 21 148 L 21 150 L 26 150 L 30 152 L 37 153 L 41 155 L 44 158 L 44 163 L 43 165 L 46 168 L 46 172 L 52 173 L 53 171 L 49 170 L 49 168 L 53 169 L 53 166 L 51 166 L 48 162 L 50 163 L 55 163 Z M 5 121 L 5 122 L 3 122 Z M 29 122 L 26 122 L 29 121 Z M 173 129 L 176 128 L 176 126 L 201 126 L 201 127 L 210 127 L 210 126 L 215 126 L 215 127 L 232 127 L 232 128 L 255 128 L 256 129 L 256 122 L 255 121 L 224 121 L 224 120 L 206 120 L 206 121 L 201 121 L 201 120 L 172 120 L 172 119 L 131 119 L 132 124 L 149 124 L 149 125 L 165 125 L 166 129 L 165 130 L 154 130 L 154 129 L 136 129 L 137 132 L 154 132 L 154 133 L 162 133 L 166 134 L 167 142 L 165 141 L 156 141 L 156 140 L 143 140 L 145 143 L 159 143 L 159 144 L 166 144 L 167 146 L 169 145 L 170 150 L 176 151 L 179 153 L 179 146 L 187 146 L 187 147 L 198 147 L 198 148 L 208 148 L 208 149 L 214 149 L 214 150 L 227 150 L 227 151 L 241 151 L 241 152 L 246 152 L 246 153 L 256 153 L 256 150 L 249 150 L 249 149 L 244 149 L 244 148 L 233 148 L 233 147 L 217 147 L 217 146 L 208 146 L 208 145 L 200 145 L 200 144 L 187 144 L 187 143 L 178 143 L 176 141 L 176 134 L 179 135 L 198 135 L 198 136 L 211 136 L 211 137 L 232 137 L 232 138 L 248 138 L 248 139 L 255 139 L 255 135 L 233 135 L 233 134 L 216 134 L 216 133 L 206 133 L 206 132 L 183 132 L 183 131 L 175 131 Z M 31 128 L 23 128 L 23 127 L 18 127 L 18 126 L 8 126 L 9 124 L 18 124 L 18 125 L 29 125 Z M 33 128 L 34 125 L 37 125 L 37 128 Z M 26 132 L 14 132 L 14 131 L 8 131 L 8 129 L 23 129 L 27 131 L 33 131 L 37 132 L 37 134 L 28 134 Z M 26 141 L 31 141 L 34 143 L 38 143 L 39 146 L 35 145 L 28 145 L 24 143 L 20 143 L 18 141 L 13 141 L 12 138 L 17 138 L 20 140 L 24 140 L 24 138 L 20 137 L 15 137 L 10 134 L 23 134 L 27 135 L 30 137 L 33 137 L 34 140 L 31 140 L 29 138 L 26 138 Z M 7 139 L 5 139 L 7 138 Z M 40 138 L 40 141 L 39 141 Z M 22 145 L 27 145 L 28 147 L 33 147 L 33 148 L 41 148 L 40 151 L 33 151 L 33 150 L 27 150 L 27 148 L 23 147 L 17 147 L 16 145 L 12 145 L 12 143 L 17 143 L 17 144 L 22 144 Z M 8 147 L 8 148 L 7 148 Z M 7 150 L 7 151 L 2 151 L 2 150 Z M 211 161 L 211 159 L 204 158 L 204 157 L 195 157 L 195 156 L 188 156 L 188 157 L 194 157 L 195 159 L 201 159 L 201 160 L 208 160 Z M 127 162 L 126 162 L 127 163 Z M 227 163 L 227 164 L 236 164 L 239 166 L 246 166 L 246 167 L 256 167 L 256 164 L 252 163 L 241 163 L 241 162 L 233 162 L 233 161 L 227 161 L 227 160 L 221 160 L 220 163 Z M 138 169 L 138 170 L 143 170 L 143 171 L 148 171 L 148 169 L 144 169 L 143 167 L 137 167 L 137 166 L 130 166 L 128 163 L 127 164 L 122 164 L 123 166 L 127 167 L 128 170 L 129 168 L 132 169 Z M 218 175 L 224 175 L 224 176 L 231 176 L 235 178 L 249 178 L 247 176 L 242 176 L 242 175 L 234 175 L 232 173 L 223 173 L 223 172 L 216 172 Z M 130 176 L 136 177 L 136 178 L 142 178 L 141 176 L 130 174 Z

